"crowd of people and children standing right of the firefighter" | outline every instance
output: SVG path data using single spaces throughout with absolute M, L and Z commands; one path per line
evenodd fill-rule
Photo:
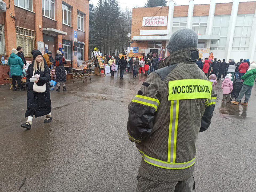
M 256 64 L 250 63 L 249 59 L 240 59 L 235 63 L 234 59 L 229 59 L 226 63 L 225 59 L 214 58 L 213 62 L 208 58 L 199 58 L 196 64 L 203 70 L 209 80 L 213 82 L 213 86 L 217 85 L 216 80 L 222 80 L 223 98 L 222 102 L 231 102 L 235 105 L 241 103 L 248 105 L 251 95 L 251 89 L 256 78 Z M 244 102 L 241 102 L 245 96 Z M 232 101 L 232 98 L 235 101 Z

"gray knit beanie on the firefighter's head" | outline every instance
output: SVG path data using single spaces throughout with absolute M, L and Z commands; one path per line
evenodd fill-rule
M 179 29 L 175 31 L 169 40 L 167 50 L 171 54 L 186 47 L 197 47 L 198 36 L 192 29 Z

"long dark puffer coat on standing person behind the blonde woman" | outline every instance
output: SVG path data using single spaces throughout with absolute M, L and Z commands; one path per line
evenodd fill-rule
M 65 58 L 63 57 L 62 54 L 56 54 L 55 56 L 55 60 L 54 60 L 54 65 L 56 66 L 55 68 L 55 73 L 56 73 L 56 81 L 57 82 L 67 82 L 66 79 L 66 72 L 65 72 L 65 67 L 64 65 L 66 65 L 67 62 L 65 60 Z

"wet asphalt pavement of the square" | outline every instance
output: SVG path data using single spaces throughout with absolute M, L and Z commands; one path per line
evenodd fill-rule
M 127 105 L 146 77 L 124 78 L 51 91 L 53 121 L 34 118 L 31 130 L 20 127 L 26 92 L 0 86 L 0 191 L 135 191 L 141 157 L 127 137 Z M 221 102 L 221 82 L 212 124 L 198 137 L 195 192 L 255 191 L 255 85 L 249 106 L 235 106 Z

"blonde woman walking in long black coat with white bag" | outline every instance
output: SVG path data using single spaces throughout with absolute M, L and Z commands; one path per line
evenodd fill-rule
M 27 110 L 25 117 L 26 123 L 22 123 L 21 127 L 31 129 L 32 119 L 46 115 L 44 123 L 49 123 L 51 117 L 51 98 L 48 82 L 51 79 L 50 69 L 44 64 L 43 55 L 40 51 L 32 51 L 33 62 L 27 69 L 26 86 L 27 86 Z M 34 80 L 36 78 L 37 80 Z M 32 80 L 33 79 L 33 80 Z M 43 93 L 34 91 L 34 83 L 37 86 L 46 85 L 46 90 Z

